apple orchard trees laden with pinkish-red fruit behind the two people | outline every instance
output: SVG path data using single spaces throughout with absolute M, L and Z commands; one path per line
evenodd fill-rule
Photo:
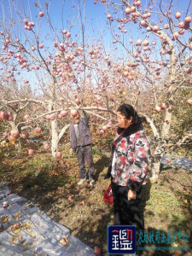
M 46 127 L 44 149 L 60 159 L 70 115 L 84 110 L 105 137 L 126 102 L 147 119 L 151 177 L 158 177 L 169 145 L 182 147 L 192 134 L 191 1 L 185 9 L 176 0 L 89 1 L 104 20 L 93 38 L 86 1 L 74 1 L 75 19 L 62 15 L 61 3 L 56 24 L 51 1 L 7 2 L 0 21 L 1 147 L 3 141 L 18 147 Z

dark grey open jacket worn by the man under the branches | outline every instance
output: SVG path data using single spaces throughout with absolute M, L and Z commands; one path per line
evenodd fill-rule
M 92 137 L 90 135 L 90 128 L 85 119 L 82 119 L 82 118 L 79 119 L 78 129 L 79 129 L 80 145 L 86 146 L 86 145 L 89 145 L 90 143 L 92 143 Z M 73 150 L 76 150 L 77 137 L 75 134 L 73 123 L 71 123 L 69 126 L 69 135 L 70 135 L 71 147 L 73 148 Z

